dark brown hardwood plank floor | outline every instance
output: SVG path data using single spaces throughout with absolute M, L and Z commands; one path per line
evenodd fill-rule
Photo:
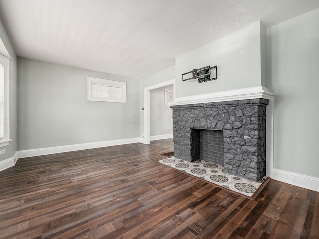
M 319 239 L 319 193 L 253 201 L 157 163 L 172 140 L 19 159 L 0 172 L 0 238 Z

